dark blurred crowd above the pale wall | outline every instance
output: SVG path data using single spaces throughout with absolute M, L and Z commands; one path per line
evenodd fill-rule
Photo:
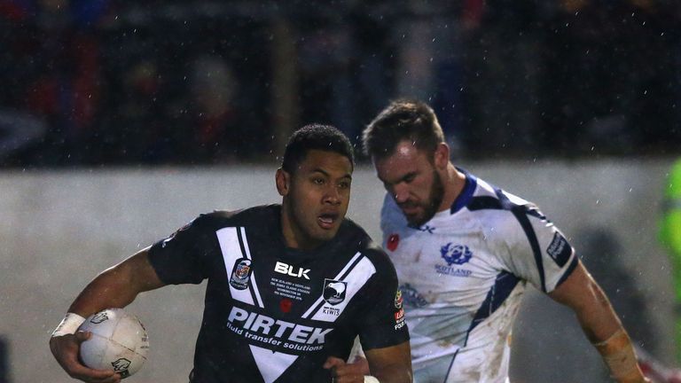
M 0 166 L 276 160 L 393 98 L 458 157 L 681 154 L 668 0 L 0 0 Z

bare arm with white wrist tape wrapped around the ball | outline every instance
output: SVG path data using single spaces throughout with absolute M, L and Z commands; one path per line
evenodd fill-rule
M 68 309 L 67 317 L 50 339 L 52 355 L 69 376 L 91 383 L 116 383 L 121 377 L 114 371 L 92 370 L 78 360 L 82 341 L 89 333 L 76 332 L 78 318 L 108 308 L 123 308 L 138 293 L 153 290 L 162 285 L 148 258 L 148 248 L 130 256 L 114 267 L 104 270 L 88 284 Z M 75 322 L 74 322 L 75 321 Z

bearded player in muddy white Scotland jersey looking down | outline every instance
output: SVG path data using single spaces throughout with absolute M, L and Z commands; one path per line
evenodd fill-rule
M 364 130 L 387 196 L 383 246 L 411 332 L 414 380 L 508 381 L 527 282 L 575 311 L 619 382 L 645 382 L 627 332 L 566 238 L 535 205 L 456 168 L 433 110 L 398 100 Z

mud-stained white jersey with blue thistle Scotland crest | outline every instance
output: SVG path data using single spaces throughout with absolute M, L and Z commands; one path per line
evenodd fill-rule
M 389 195 L 381 211 L 417 383 L 504 382 L 526 282 L 549 293 L 578 262 L 535 205 L 459 170 L 461 195 L 421 227 Z

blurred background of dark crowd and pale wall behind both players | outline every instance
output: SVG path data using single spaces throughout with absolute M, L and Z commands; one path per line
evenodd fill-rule
M 69 381 L 47 348 L 99 271 L 200 212 L 278 200 L 301 124 L 357 141 L 387 100 L 439 114 L 455 161 L 536 201 L 632 335 L 673 353 L 661 189 L 681 155 L 681 8 L 654 0 L 0 0 L 0 381 Z M 349 216 L 378 238 L 365 159 Z M 139 382 L 186 381 L 202 288 L 146 293 Z M 520 382 L 606 381 L 568 311 L 532 294 Z

